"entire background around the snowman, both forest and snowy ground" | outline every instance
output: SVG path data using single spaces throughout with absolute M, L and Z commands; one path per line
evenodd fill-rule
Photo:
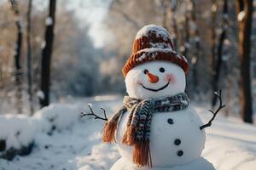
M 137 31 L 164 26 L 189 60 L 186 92 L 207 122 L 202 156 L 218 170 L 256 166 L 256 1 L 0 0 L 0 169 L 108 170 L 103 122 L 121 105 Z M 254 123 L 254 124 L 252 124 Z

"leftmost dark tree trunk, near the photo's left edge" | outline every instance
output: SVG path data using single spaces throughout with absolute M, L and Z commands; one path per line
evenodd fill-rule
M 20 58 L 21 58 L 21 48 L 22 48 L 22 30 L 21 30 L 21 23 L 20 23 L 20 11 L 18 8 L 18 2 L 15 0 L 10 0 L 12 10 L 15 13 L 16 21 L 15 25 L 17 27 L 17 39 L 15 42 L 15 85 L 17 87 L 15 96 L 16 96 L 16 106 L 18 113 L 22 113 L 22 71 L 20 65 Z

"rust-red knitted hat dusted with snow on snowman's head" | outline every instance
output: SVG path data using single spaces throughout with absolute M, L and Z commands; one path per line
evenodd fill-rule
M 135 66 L 154 60 L 170 61 L 183 68 L 185 73 L 189 72 L 188 61 L 174 51 L 169 32 L 161 26 L 148 25 L 137 32 L 132 54 L 123 67 L 124 77 Z

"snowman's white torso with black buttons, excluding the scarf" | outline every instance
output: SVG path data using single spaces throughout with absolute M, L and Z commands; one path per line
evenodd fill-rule
M 132 146 L 122 144 L 129 113 L 119 121 L 117 145 L 119 153 L 132 160 Z M 205 132 L 200 130 L 201 119 L 194 109 L 154 113 L 150 151 L 153 167 L 173 167 L 195 161 L 201 156 L 205 145 Z

